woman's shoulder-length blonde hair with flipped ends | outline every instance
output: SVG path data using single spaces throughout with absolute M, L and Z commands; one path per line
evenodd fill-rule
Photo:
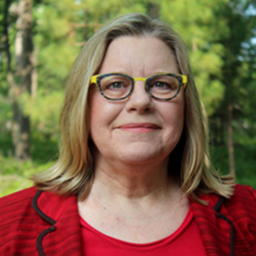
M 209 158 L 207 117 L 201 108 L 183 42 L 169 25 L 142 14 L 124 15 L 113 20 L 84 45 L 67 81 L 60 119 L 60 155 L 54 166 L 33 177 L 38 189 L 79 195 L 79 200 L 88 195 L 94 177 L 87 104 L 90 77 L 99 70 L 108 45 L 115 38 L 147 35 L 165 42 L 177 59 L 180 73 L 188 76 L 183 135 L 170 156 L 178 183 L 186 195 L 196 201 L 200 201 L 198 194 L 232 195 L 232 180 L 219 177 Z

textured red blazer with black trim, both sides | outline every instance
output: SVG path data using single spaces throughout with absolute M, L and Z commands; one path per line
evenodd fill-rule
M 208 256 L 256 255 L 256 191 L 236 185 L 230 200 L 190 200 Z M 82 256 L 76 196 L 25 189 L 0 199 L 0 255 Z

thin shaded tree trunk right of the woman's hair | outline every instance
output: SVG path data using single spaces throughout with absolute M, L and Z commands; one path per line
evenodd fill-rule
M 233 106 L 231 103 L 228 105 L 228 150 L 230 159 L 230 175 L 236 177 L 235 170 L 235 157 L 234 157 L 234 145 L 233 145 L 233 128 L 232 128 L 232 116 L 233 116 Z

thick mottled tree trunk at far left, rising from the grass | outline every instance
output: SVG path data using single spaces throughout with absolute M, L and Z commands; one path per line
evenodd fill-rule
M 20 97 L 32 90 L 32 0 L 19 1 L 17 33 L 15 38 L 16 75 L 20 80 L 11 90 L 13 106 L 13 143 L 15 158 L 30 158 L 30 119 L 24 113 Z

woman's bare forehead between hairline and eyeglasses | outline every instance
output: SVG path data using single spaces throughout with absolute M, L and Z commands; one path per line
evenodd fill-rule
M 177 73 L 172 49 L 152 36 L 124 36 L 109 44 L 100 73 L 126 73 L 148 76 L 154 73 Z

